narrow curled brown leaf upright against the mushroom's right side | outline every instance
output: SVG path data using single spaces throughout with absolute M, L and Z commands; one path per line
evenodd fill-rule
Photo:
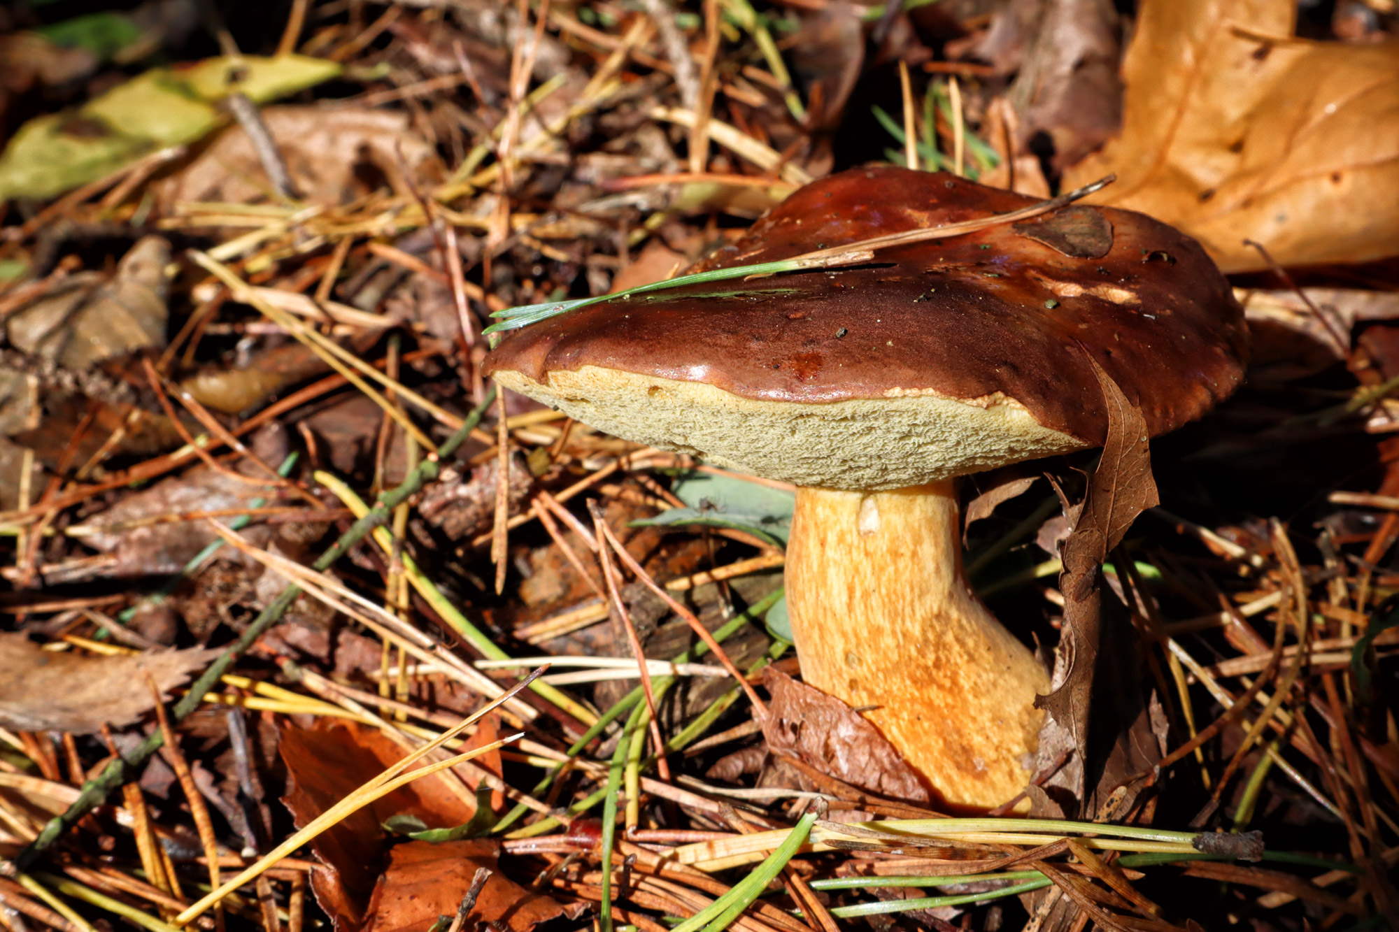
M 1083 798 L 1090 696 L 1101 634 L 1100 568 L 1136 516 L 1158 501 L 1146 420 L 1097 362 L 1093 368 L 1107 403 L 1108 438 L 1088 483 L 1083 512 L 1063 544 L 1059 589 L 1065 598 L 1065 624 L 1055 656 L 1056 689 L 1035 701 L 1046 711 L 1037 770 L 1062 761 L 1072 751 L 1074 770 L 1069 789 L 1077 799 Z

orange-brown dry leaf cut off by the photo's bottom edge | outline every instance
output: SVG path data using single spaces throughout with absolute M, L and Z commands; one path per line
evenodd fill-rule
M 562 905 L 526 890 L 501 873 L 501 842 L 477 838 L 429 844 L 410 841 L 389 856 L 389 869 L 374 887 L 364 932 L 425 932 L 439 915 L 455 915 L 478 868 L 491 870 L 464 928 L 529 932 L 561 915 L 576 918 L 583 904 Z

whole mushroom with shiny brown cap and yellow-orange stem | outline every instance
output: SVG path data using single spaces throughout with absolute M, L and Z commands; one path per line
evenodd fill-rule
M 947 174 L 813 182 L 697 270 L 1035 203 Z M 1242 378 L 1203 249 L 1067 207 L 873 260 L 614 298 L 508 333 L 487 371 L 617 437 L 797 486 L 786 595 L 803 679 L 860 708 L 949 806 L 1024 789 L 1049 689 L 963 574 L 954 480 L 1101 445 L 1094 362 L 1153 435 Z

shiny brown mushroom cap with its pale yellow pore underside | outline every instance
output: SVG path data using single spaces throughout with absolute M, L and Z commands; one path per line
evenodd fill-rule
M 1032 203 L 947 174 L 860 168 L 795 192 L 695 270 Z M 585 306 L 508 333 L 487 367 L 628 439 L 797 484 L 897 488 L 1101 444 L 1090 354 L 1156 435 L 1238 386 L 1247 330 L 1193 239 L 1076 206 L 862 266 Z

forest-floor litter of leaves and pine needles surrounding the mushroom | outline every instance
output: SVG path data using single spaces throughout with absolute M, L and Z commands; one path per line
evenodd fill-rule
M 231 15 L 218 57 L 178 6 L 109 45 L 57 7 L 0 21 L 7 926 L 1392 914 L 1386 4 L 306 0 Z M 1116 172 L 1095 197 L 1199 236 L 1254 332 L 1252 385 L 1150 453 L 1102 379 L 1097 462 L 965 483 L 972 578 L 1056 668 L 1030 817 L 929 810 L 797 679 L 789 488 L 478 376 L 497 312 L 665 283 L 894 146 L 1039 197 Z M 1100 220 L 1014 232 L 1094 256 Z M 551 658 L 464 749 L 522 737 L 334 816 Z M 193 918 L 207 851 L 218 883 L 266 873 Z

